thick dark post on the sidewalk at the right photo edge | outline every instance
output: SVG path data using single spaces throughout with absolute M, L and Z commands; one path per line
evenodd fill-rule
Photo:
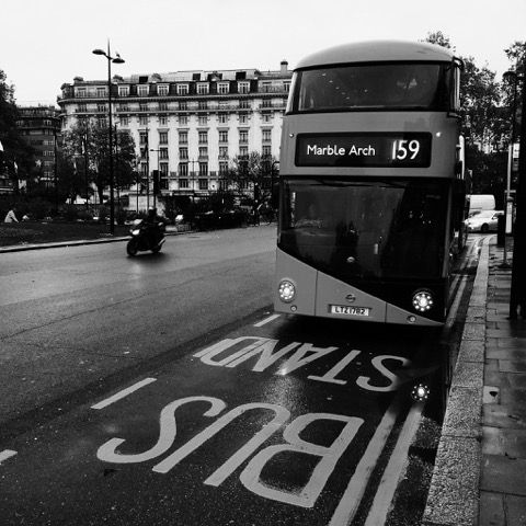
M 526 60 L 524 61 L 526 66 Z M 524 75 L 518 76 L 515 71 L 508 72 L 508 78 L 514 78 L 515 84 L 523 80 L 522 90 L 522 118 L 521 118 L 521 146 L 518 157 L 517 188 L 515 193 L 516 218 L 513 232 L 513 267 L 512 288 L 510 291 L 510 319 L 517 319 L 517 310 L 521 317 L 526 319 L 526 277 L 524 266 L 526 263 L 526 87 Z M 516 89 L 516 85 L 515 85 Z M 514 135 L 514 127 L 512 128 Z

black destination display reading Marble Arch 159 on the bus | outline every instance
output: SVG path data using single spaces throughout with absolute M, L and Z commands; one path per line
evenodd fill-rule
M 427 168 L 431 134 L 301 134 L 297 167 Z

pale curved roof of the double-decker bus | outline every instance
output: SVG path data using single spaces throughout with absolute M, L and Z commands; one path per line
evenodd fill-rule
M 449 49 L 424 42 L 367 41 L 322 49 L 299 61 L 296 69 L 350 62 L 373 61 L 439 61 L 450 62 Z

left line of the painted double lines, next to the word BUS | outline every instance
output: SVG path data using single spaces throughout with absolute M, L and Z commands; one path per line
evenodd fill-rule
M 375 469 L 378 457 L 380 456 L 387 438 L 391 433 L 392 426 L 397 421 L 398 413 L 400 412 L 400 396 L 397 396 L 384 414 L 384 418 L 376 428 L 376 432 L 373 435 L 364 456 L 356 466 L 356 470 L 348 482 L 347 489 L 340 500 L 340 504 L 338 505 L 329 526 L 347 526 L 352 524 L 362 498 L 364 496 L 365 488 L 369 481 L 370 473 Z

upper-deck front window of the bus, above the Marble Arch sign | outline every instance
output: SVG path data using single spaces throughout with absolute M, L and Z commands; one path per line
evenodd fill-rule
M 450 66 L 396 62 L 296 72 L 293 112 L 448 111 Z

